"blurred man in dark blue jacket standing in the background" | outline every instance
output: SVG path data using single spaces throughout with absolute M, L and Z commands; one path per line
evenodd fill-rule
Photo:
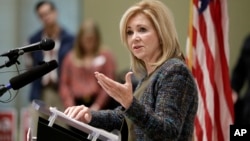
M 58 94 L 58 80 L 60 78 L 61 64 L 73 46 L 73 36 L 62 28 L 58 21 L 58 13 L 54 3 L 50 1 L 39 1 L 35 6 L 35 12 L 43 27 L 29 38 L 29 43 L 36 43 L 43 38 L 50 38 L 55 41 L 55 47 L 50 51 L 37 51 L 28 54 L 26 63 L 28 67 L 38 65 L 43 61 L 57 60 L 57 70 L 51 71 L 32 83 L 30 101 L 42 99 L 48 106 L 63 108 Z

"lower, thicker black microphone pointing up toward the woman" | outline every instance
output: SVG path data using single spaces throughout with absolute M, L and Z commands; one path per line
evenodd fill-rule
M 9 89 L 12 88 L 13 90 L 17 90 L 19 88 L 22 88 L 23 86 L 31 83 L 32 81 L 35 81 L 39 77 L 42 77 L 43 75 L 47 74 L 57 67 L 57 62 L 55 60 L 52 60 L 11 78 L 10 83 L 5 86 L 0 86 L 0 97 Z

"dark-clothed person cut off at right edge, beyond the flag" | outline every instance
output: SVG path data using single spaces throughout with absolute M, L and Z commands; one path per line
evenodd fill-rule
M 246 92 L 240 95 L 246 83 Z M 241 48 L 238 62 L 232 73 L 231 86 L 237 97 L 235 124 L 250 124 L 250 35 L 245 39 Z

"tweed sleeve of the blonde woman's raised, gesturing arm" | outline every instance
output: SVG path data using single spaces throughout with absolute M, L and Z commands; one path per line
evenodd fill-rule
M 175 140 L 181 134 L 187 115 L 196 114 L 197 89 L 184 65 L 170 66 L 159 76 L 154 107 L 142 105 L 134 98 L 125 115 L 152 140 Z M 196 105 L 193 110 L 189 110 L 191 104 Z

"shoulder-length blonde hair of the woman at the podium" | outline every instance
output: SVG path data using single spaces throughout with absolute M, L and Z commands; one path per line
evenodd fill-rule
M 128 47 L 127 43 L 127 23 L 136 14 L 144 14 L 152 22 L 158 37 L 162 54 L 157 62 L 152 65 L 160 66 L 167 59 L 180 58 L 184 60 L 180 49 L 178 35 L 174 25 L 174 19 L 171 11 L 158 0 L 142 0 L 131 6 L 122 16 L 120 21 L 120 36 L 122 43 Z M 130 51 L 131 69 L 135 75 L 143 77 L 147 74 L 145 64 L 142 60 L 136 58 Z

